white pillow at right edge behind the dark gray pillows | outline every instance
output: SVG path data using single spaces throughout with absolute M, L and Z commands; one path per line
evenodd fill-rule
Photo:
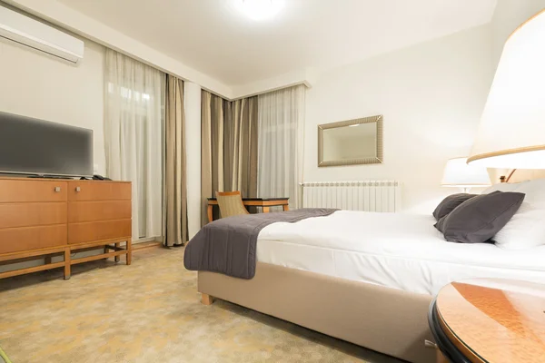
M 524 201 L 492 240 L 506 250 L 524 250 L 545 244 L 545 179 L 511 185 L 517 187 L 510 191 L 525 194 Z

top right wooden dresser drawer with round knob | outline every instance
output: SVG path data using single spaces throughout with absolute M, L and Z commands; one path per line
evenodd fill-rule
M 68 201 L 129 201 L 130 182 L 68 182 Z

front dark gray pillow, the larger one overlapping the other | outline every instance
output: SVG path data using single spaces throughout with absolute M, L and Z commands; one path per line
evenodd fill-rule
M 461 203 L 435 223 L 435 228 L 451 242 L 482 243 L 510 221 L 523 200 L 520 192 L 482 194 Z

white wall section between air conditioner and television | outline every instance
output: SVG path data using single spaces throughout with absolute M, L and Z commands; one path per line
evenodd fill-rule
M 0 41 L 0 111 L 94 131 L 94 163 L 105 171 L 104 47 L 85 40 L 77 66 Z

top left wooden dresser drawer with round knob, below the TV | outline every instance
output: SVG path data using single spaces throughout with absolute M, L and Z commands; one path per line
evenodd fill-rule
M 0 180 L 0 203 L 66 201 L 65 181 Z

